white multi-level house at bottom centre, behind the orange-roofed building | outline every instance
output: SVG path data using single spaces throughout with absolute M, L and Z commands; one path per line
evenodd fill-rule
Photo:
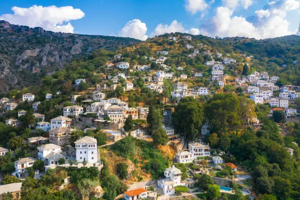
M 182 185 L 181 171 L 172 165 L 165 170 L 164 175 L 166 178 L 157 181 L 158 187 L 162 188 L 164 195 L 175 194 L 175 186 Z

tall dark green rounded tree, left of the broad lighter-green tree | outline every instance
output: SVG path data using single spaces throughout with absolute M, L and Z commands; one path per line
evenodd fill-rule
M 191 141 L 201 134 L 203 119 L 203 107 L 192 97 L 182 98 L 172 115 L 176 132 Z

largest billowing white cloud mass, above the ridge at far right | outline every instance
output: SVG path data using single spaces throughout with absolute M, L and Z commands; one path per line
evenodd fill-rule
M 290 31 L 286 13 L 300 7 L 299 0 L 276 0 L 264 9 L 257 10 L 251 21 L 233 16 L 233 9 L 218 7 L 216 14 L 207 25 L 200 29 L 201 34 L 211 37 L 254 37 L 256 39 L 280 37 L 296 34 Z

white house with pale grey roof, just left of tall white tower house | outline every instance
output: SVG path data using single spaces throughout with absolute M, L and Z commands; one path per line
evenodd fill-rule
M 58 161 L 61 158 L 65 158 L 65 156 L 62 155 L 61 147 L 52 143 L 38 147 L 37 152 L 38 159 L 42 159 L 45 162 L 45 165 L 58 165 Z

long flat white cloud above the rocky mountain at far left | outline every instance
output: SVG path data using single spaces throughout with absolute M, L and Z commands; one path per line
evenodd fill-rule
M 54 5 L 43 7 L 33 5 L 29 8 L 12 7 L 14 14 L 3 14 L 0 20 L 11 24 L 40 26 L 54 32 L 74 32 L 74 27 L 69 23 L 84 17 L 84 12 L 72 6 L 56 7 Z M 67 24 L 66 24 L 67 23 Z

